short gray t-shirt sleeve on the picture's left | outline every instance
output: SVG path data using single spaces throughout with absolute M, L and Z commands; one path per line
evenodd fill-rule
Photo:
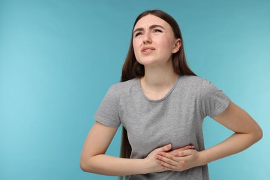
M 113 87 L 110 87 L 109 91 L 107 91 L 94 118 L 102 125 L 119 127 L 118 98 L 114 93 Z

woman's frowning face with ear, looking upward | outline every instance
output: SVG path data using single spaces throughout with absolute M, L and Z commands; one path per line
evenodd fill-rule
M 181 40 L 175 39 L 170 24 L 154 15 L 138 20 L 133 32 L 136 60 L 145 66 L 171 62 L 172 53 L 177 53 L 181 46 Z

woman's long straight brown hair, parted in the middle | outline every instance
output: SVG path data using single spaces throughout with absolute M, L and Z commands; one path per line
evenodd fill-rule
M 190 70 L 186 62 L 186 56 L 183 51 L 183 38 L 181 35 L 180 28 L 177 24 L 177 21 L 175 21 L 173 17 L 168 15 L 166 12 L 163 12 L 162 10 L 146 10 L 145 12 L 142 12 L 141 15 L 138 15 L 137 19 L 134 22 L 134 26 L 136 25 L 138 20 L 140 20 L 142 17 L 145 17 L 146 15 L 154 15 L 166 21 L 172 27 L 174 37 L 176 39 L 177 38 L 181 39 L 181 47 L 179 51 L 172 55 L 172 65 L 174 73 L 177 73 L 178 75 L 196 75 Z M 138 63 L 134 54 L 134 48 L 132 45 L 134 37 L 133 36 L 134 26 L 132 28 L 132 39 L 129 45 L 129 51 L 127 52 L 127 57 L 123 64 L 122 76 L 120 80 L 121 82 L 132 80 L 134 78 L 141 78 L 145 75 L 144 66 Z M 127 138 L 127 130 L 125 129 L 125 127 L 123 127 L 120 157 L 130 158 L 131 152 L 132 147 L 130 146 Z

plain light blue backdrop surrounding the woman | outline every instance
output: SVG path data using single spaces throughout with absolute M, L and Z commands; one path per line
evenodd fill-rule
M 188 63 L 255 118 L 264 138 L 210 163 L 210 179 L 267 179 L 270 1 L 0 1 L 0 179 L 117 179 L 82 172 L 93 115 L 120 71 L 132 25 L 158 8 Z M 231 135 L 210 118 L 206 147 Z M 118 156 L 120 132 L 108 154 Z M 267 168 L 268 167 L 268 168 Z

